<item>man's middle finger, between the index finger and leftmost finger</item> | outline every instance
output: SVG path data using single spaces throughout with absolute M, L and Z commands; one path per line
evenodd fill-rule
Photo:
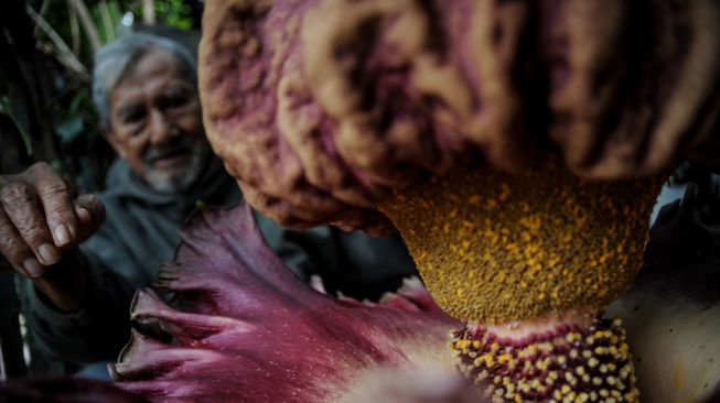
M 8 184 L 0 190 L 0 204 L 37 260 L 44 265 L 56 263 L 60 260 L 60 251 L 54 246 L 45 214 L 34 189 L 23 183 Z

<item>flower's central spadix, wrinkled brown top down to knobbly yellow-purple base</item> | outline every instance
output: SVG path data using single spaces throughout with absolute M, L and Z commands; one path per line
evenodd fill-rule
M 208 1 L 204 121 L 270 217 L 398 228 L 494 399 L 635 401 L 599 313 L 658 172 L 718 156 L 718 21 L 710 0 Z

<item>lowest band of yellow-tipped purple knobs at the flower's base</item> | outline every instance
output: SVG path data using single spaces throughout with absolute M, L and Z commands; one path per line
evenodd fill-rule
M 493 402 L 637 402 L 632 356 L 620 319 L 560 326 L 522 342 L 482 327 L 453 334 L 458 368 Z

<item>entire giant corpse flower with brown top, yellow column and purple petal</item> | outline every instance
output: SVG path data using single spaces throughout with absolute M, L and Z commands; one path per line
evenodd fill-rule
M 219 214 L 163 271 L 176 299 L 139 294 L 135 318 L 165 342 L 136 333 L 116 378 L 158 400 L 347 401 L 374 384 L 363 374 L 430 357 L 498 402 L 633 402 L 636 378 L 673 388 L 635 371 L 601 311 L 637 274 L 663 170 L 678 152 L 717 161 L 718 21 L 713 0 L 207 1 L 204 120 L 249 203 L 298 228 L 399 229 L 462 322 L 407 291 L 389 305 L 293 294 L 275 258 L 248 258 L 257 242 L 230 241 L 223 222 L 248 229 L 247 214 Z M 659 305 L 624 312 L 631 336 Z M 714 364 L 630 345 L 664 375 L 717 384 Z

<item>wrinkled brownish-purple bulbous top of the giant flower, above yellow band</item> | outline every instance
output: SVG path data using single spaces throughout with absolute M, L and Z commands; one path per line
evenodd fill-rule
M 376 206 L 425 173 L 537 150 L 631 177 L 718 155 L 712 0 L 208 1 L 213 146 L 286 225 L 387 230 Z

